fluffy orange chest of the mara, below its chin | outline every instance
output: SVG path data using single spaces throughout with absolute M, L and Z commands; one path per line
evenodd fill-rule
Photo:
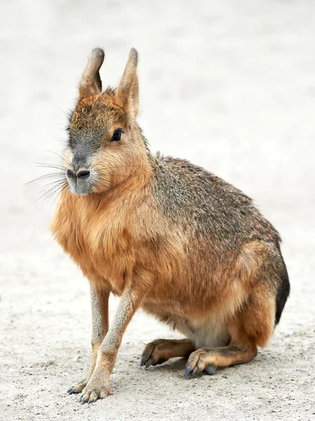
M 134 238 L 122 212 L 89 206 L 83 198 L 70 206 L 61 200 L 50 229 L 64 251 L 92 283 L 111 283 L 120 294 L 136 260 Z

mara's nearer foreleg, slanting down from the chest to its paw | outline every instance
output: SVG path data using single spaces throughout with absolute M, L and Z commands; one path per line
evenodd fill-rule
M 109 376 L 116 362 L 123 333 L 150 287 L 151 277 L 141 274 L 125 288 L 113 322 L 97 352 L 97 361 L 92 376 L 82 391 L 81 403 L 94 402 L 109 394 Z

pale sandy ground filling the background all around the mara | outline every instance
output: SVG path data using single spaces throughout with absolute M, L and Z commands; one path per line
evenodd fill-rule
M 315 4 L 312 1 L 1 1 L 1 420 L 315 420 Z M 87 55 L 104 86 L 141 57 L 140 123 L 253 196 L 283 236 L 290 300 L 255 361 L 183 377 L 144 370 L 146 342 L 176 333 L 139 312 L 111 396 L 67 396 L 90 355 L 88 284 L 48 232 L 54 204 L 23 183 L 57 162 Z M 117 300 L 111 301 L 111 316 Z

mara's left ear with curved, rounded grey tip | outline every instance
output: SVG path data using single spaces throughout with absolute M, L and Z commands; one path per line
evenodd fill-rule
M 102 92 L 102 81 L 99 76 L 99 69 L 104 62 L 104 50 L 94 48 L 85 67 L 80 80 L 79 99 L 88 98 Z

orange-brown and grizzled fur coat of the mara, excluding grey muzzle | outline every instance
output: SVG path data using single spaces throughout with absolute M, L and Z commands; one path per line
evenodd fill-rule
M 51 223 L 94 297 L 92 368 L 71 391 L 83 392 L 83 403 L 109 393 L 118 347 L 139 307 L 188 338 L 165 342 L 159 352 L 162 342 L 152 342 L 142 363 L 193 351 L 188 372 L 250 361 L 272 335 L 286 272 L 279 234 L 251 199 L 188 161 L 149 152 L 135 121 L 137 52 L 118 90 L 104 93 L 95 57 L 102 53 L 92 53 L 83 74 L 65 159 L 73 163 L 77 145 L 101 133 L 88 161 L 98 179 L 84 196 L 64 187 Z M 118 128 L 122 138 L 111 142 Z M 108 330 L 109 291 L 122 298 Z

